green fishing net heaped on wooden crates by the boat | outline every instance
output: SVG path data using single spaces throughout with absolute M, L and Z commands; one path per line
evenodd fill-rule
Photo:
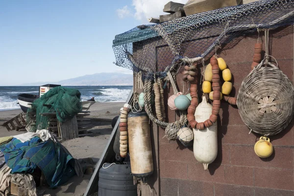
M 36 99 L 27 114 L 36 113 L 36 125 L 31 131 L 45 129 L 48 126 L 50 117 L 42 116 L 41 113 L 54 113 L 60 123 L 70 120 L 82 111 L 81 94 L 76 89 L 55 87 L 50 89 L 41 98 Z M 31 117 L 27 115 L 27 122 Z

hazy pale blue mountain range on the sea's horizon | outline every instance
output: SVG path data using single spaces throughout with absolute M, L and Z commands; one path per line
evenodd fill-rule
M 132 86 L 133 75 L 126 73 L 94 73 L 58 82 L 34 82 L 22 86 L 41 86 L 44 84 L 60 84 L 62 86 Z

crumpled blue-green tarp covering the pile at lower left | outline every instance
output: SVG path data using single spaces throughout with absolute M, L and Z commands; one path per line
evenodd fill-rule
M 22 143 L 13 138 L 0 146 L 0 150 L 11 173 L 32 173 L 39 167 L 50 187 L 65 183 L 75 174 L 72 155 L 60 143 L 55 144 L 52 140 L 43 142 L 39 137 L 34 137 Z

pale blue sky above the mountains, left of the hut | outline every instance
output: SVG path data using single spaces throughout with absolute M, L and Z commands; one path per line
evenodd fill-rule
M 0 86 L 130 73 L 113 64 L 115 35 L 158 17 L 168 1 L 0 0 Z

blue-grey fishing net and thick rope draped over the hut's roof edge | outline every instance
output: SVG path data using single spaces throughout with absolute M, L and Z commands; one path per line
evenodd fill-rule
M 256 31 L 293 23 L 294 0 L 259 0 L 157 25 L 141 25 L 115 37 L 115 64 L 140 75 L 144 83 L 145 110 L 150 120 L 165 128 L 169 139 L 175 139 L 177 130 L 187 123 L 187 116 L 182 112 L 175 123 L 166 123 L 159 120 L 160 115 L 154 116 L 150 104 L 152 84 L 171 82 L 176 94 L 178 90 L 173 83 L 183 65 L 204 63 L 218 49 L 233 48 Z M 156 108 L 156 111 L 160 109 Z

